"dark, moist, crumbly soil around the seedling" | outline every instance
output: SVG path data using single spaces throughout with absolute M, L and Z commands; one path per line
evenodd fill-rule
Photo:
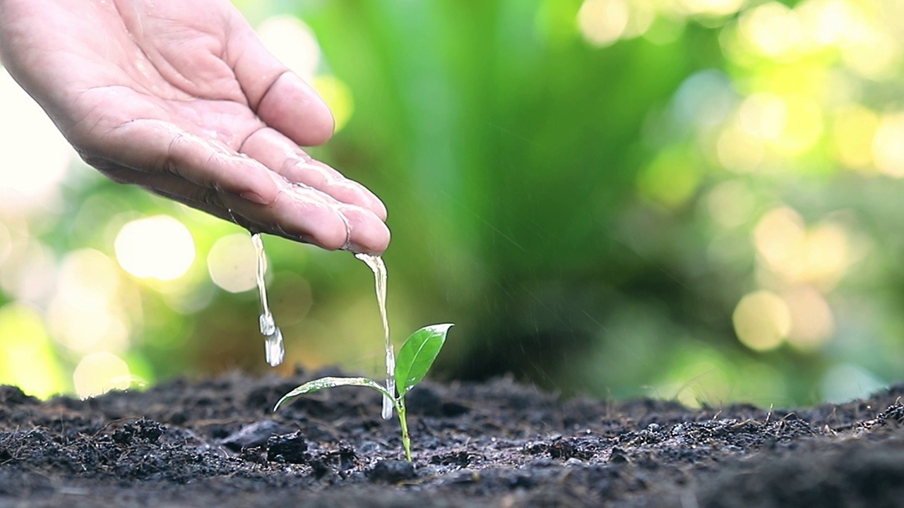
M 560 400 L 510 379 L 410 393 L 414 464 L 372 390 L 316 376 L 91 400 L 0 388 L 0 507 L 900 506 L 904 385 L 811 409 Z

